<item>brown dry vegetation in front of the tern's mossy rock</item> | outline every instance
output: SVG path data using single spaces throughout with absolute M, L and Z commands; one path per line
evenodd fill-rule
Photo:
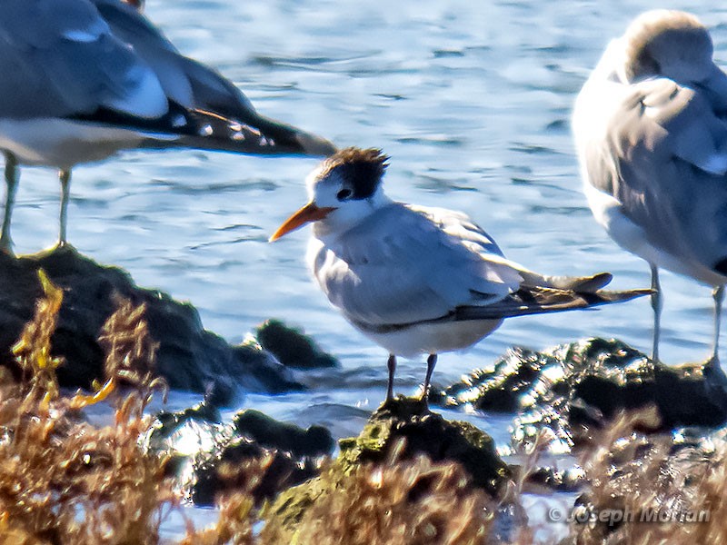
M 294 526 L 284 514 L 270 517 L 264 543 L 484 543 L 496 508 L 459 464 L 423 456 L 398 461 L 394 454 L 343 476 L 332 464 L 317 486 L 320 494 Z

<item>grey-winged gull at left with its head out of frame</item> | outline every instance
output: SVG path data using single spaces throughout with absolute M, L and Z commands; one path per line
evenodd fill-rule
M 55 167 L 64 244 L 71 169 L 129 148 L 327 155 L 333 144 L 257 114 L 234 84 L 184 57 L 121 0 L 5 0 L 0 18 L 0 150 L 12 253 L 18 165 Z

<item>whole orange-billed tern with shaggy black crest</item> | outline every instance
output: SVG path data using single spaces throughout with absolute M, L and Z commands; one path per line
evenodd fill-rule
M 587 308 L 646 294 L 599 291 L 603 272 L 548 277 L 503 257 L 463 213 L 395 203 L 383 193 L 388 157 L 347 148 L 307 179 L 310 202 L 271 242 L 314 222 L 307 260 L 348 322 L 389 352 L 386 400 L 396 356 L 428 354 L 423 397 L 439 352 L 461 350 L 509 316 Z

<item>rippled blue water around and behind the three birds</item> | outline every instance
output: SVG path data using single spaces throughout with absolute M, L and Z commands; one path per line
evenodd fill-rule
M 644 287 L 648 267 L 593 222 L 581 193 L 569 118 L 603 47 L 644 9 L 692 11 L 714 26 L 727 63 L 727 9 L 703 2 L 433 0 L 149 0 L 146 14 L 185 54 L 238 84 L 259 111 L 344 145 L 392 156 L 388 193 L 463 210 L 511 259 L 550 274 L 611 271 L 616 288 Z M 69 239 L 140 285 L 199 309 L 205 327 L 239 342 L 269 317 L 304 326 L 343 363 L 305 394 L 249 396 L 301 424 L 358 431 L 383 400 L 385 353 L 334 312 L 304 267 L 307 233 L 266 242 L 304 203 L 314 159 L 189 151 L 126 153 L 74 172 Z M 25 169 L 14 217 L 19 252 L 55 241 L 55 174 Z M 710 350 L 710 290 L 668 272 L 662 357 Z M 463 354 L 440 357 L 434 382 L 456 381 L 509 346 L 542 349 L 602 335 L 648 351 L 646 300 L 598 312 L 505 322 Z M 396 389 L 415 391 L 422 362 L 401 362 Z M 306 380 L 302 377 L 302 380 Z M 472 416 L 507 440 L 507 417 Z

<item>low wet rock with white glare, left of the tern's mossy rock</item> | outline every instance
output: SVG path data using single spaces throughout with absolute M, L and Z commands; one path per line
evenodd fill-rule
M 167 471 L 184 497 L 213 505 L 224 492 L 244 490 L 259 502 L 314 477 L 334 441 L 321 426 L 303 430 L 259 411 L 223 423 L 216 408 L 200 403 L 158 414 L 145 447 L 171 460 Z

